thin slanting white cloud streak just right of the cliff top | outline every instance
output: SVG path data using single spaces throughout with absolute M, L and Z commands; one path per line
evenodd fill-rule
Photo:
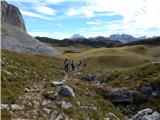
M 46 17 L 46 16 L 43 16 L 43 15 L 40 15 L 37 13 L 33 13 L 31 11 L 21 10 L 21 13 L 22 13 L 22 15 L 29 16 L 29 17 L 36 17 L 36 18 L 41 18 L 41 19 L 45 19 L 45 20 L 51 20 L 50 17 Z

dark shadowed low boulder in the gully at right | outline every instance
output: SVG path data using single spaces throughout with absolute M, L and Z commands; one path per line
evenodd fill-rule
M 122 89 L 107 89 L 106 98 L 113 103 L 133 103 L 133 91 Z

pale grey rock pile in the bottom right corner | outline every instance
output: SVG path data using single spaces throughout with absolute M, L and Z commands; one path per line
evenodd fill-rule
M 160 120 L 160 113 L 153 111 L 151 108 L 147 108 L 139 111 L 129 120 Z

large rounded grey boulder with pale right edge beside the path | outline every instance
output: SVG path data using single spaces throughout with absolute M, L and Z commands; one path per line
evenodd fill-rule
M 61 96 L 69 96 L 75 98 L 75 93 L 71 87 L 63 86 L 60 88 L 59 95 Z

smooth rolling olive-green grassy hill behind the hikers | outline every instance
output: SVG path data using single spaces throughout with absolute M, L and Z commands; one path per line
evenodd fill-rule
M 71 59 L 80 59 L 94 71 L 99 69 L 125 69 L 160 60 L 160 46 L 125 46 L 89 49 L 82 53 L 65 54 Z

